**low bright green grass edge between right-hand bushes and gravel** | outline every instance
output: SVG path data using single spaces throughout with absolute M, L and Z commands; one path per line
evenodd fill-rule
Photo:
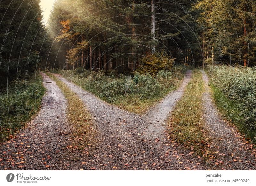
M 210 85 L 215 104 L 222 116 L 234 123 L 238 130 L 245 135 L 245 138 L 250 138 L 252 143 L 255 143 L 256 130 L 250 130 L 245 126 L 244 118 L 236 102 L 228 99 L 213 83 L 210 83 Z

